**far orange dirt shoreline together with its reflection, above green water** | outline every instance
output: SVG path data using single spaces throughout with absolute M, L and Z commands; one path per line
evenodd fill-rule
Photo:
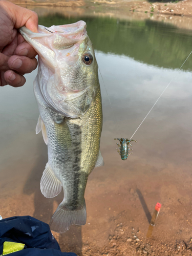
M 182 29 L 192 29 L 192 0 L 170 2 L 147 1 L 62 1 L 62 2 L 11 2 L 35 11 L 39 16 L 61 14 L 65 16 L 110 17 L 125 20 L 151 19 L 173 24 Z

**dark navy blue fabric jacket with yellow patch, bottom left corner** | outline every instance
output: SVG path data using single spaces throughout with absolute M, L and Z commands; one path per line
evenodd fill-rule
M 13 256 L 77 256 L 61 252 L 49 225 L 30 216 L 11 217 L 0 221 L 0 255 L 5 241 L 25 244 L 25 248 L 11 253 Z

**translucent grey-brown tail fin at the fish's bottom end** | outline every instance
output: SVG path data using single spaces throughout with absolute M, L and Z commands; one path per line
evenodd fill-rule
M 86 219 L 87 212 L 85 200 L 82 207 L 76 210 L 70 210 L 62 201 L 54 212 L 49 225 L 51 230 L 57 233 L 64 233 L 69 230 L 71 225 L 86 224 Z

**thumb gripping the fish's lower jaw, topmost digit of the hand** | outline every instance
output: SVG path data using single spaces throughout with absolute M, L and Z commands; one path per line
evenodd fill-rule
M 1 0 L 1 4 L 10 15 L 16 29 L 26 26 L 31 31 L 38 32 L 38 15 L 35 12 L 4 0 Z

